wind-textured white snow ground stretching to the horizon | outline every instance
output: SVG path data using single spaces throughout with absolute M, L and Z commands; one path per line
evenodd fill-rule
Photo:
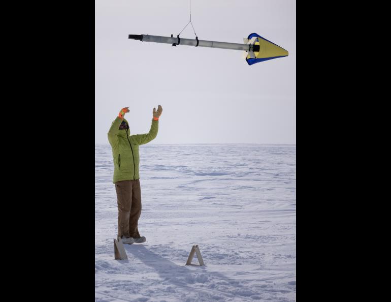
M 140 146 L 147 241 L 128 260 L 114 260 L 113 169 L 96 144 L 96 301 L 296 301 L 296 145 Z M 205 266 L 185 266 L 196 244 Z

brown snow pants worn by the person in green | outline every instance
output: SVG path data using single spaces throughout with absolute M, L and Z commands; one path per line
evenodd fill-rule
M 118 240 L 120 237 L 140 238 L 138 221 L 141 214 L 140 179 L 115 183 L 118 204 Z

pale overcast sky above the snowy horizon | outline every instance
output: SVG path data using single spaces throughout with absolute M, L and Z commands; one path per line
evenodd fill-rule
M 191 0 L 200 40 L 243 43 L 257 33 L 289 56 L 249 66 L 242 51 L 130 40 L 176 35 L 190 1 L 95 0 L 95 143 L 123 107 L 132 134 L 151 143 L 296 144 L 296 1 Z M 180 35 L 194 39 L 189 24 Z

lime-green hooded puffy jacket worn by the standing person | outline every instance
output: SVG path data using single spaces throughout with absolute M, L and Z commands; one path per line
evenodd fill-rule
M 129 126 L 126 119 L 124 122 Z M 152 119 L 149 133 L 130 135 L 129 129 L 119 130 L 122 119 L 117 117 L 107 134 L 111 148 L 113 149 L 114 177 L 113 183 L 120 180 L 139 179 L 139 145 L 146 144 L 157 135 L 158 120 Z

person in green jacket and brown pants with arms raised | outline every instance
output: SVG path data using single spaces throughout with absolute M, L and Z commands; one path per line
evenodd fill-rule
M 141 214 L 141 189 L 139 175 L 139 145 L 146 144 L 157 135 L 159 116 L 163 109 L 153 108 L 151 129 L 146 134 L 130 135 L 129 124 L 123 117 L 129 107 L 122 108 L 107 134 L 113 150 L 113 184 L 117 192 L 118 240 L 124 244 L 143 243 L 138 221 Z

